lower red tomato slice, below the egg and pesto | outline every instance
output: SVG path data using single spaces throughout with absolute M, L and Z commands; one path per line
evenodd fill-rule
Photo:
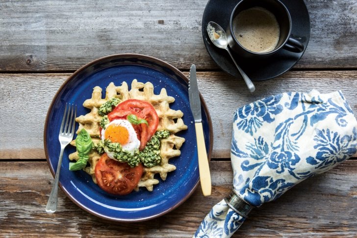
M 128 163 L 111 159 L 106 153 L 101 156 L 94 171 L 99 187 L 114 195 L 131 193 L 138 185 L 143 172 L 142 164 L 131 168 Z

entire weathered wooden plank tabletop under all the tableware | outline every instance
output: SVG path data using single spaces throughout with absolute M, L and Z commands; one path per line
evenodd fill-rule
M 305 0 L 311 38 L 289 72 L 256 82 L 250 93 L 211 60 L 203 43 L 207 0 L 0 1 L 0 236 L 192 237 L 232 186 L 229 147 L 233 111 L 260 98 L 312 88 L 342 90 L 357 111 L 357 1 Z M 109 223 L 59 191 L 45 212 L 53 178 L 43 148 L 48 107 L 78 67 L 103 56 L 138 53 L 186 75 L 198 68 L 211 113 L 212 195 L 199 187 L 176 210 L 139 223 Z M 257 69 L 259 70 L 259 69 Z M 357 237 L 357 160 L 297 185 L 255 209 L 233 237 Z

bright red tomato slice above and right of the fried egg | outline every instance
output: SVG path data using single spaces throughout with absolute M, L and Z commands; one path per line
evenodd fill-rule
M 108 114 L 108 119 L 109 121 L 112 121 L 114 119 L 125 117 L 129 114 L 134 114 L 140 119 L 145 119 L 149 124 L 149 127 L 146 124 L 141 124 L 140 148 L 143 149 L 153 134 L 155 134 L 159 125 L 159 117 L 155 108 L 153 108 L 153 105 L 149 102 L 129 99 L 115 107 Z

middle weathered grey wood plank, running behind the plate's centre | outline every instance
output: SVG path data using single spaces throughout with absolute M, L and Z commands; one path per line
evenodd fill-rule
M 187 72 L 185 72 L 187 74 Z M 45 158 L 43 128 L 51 100 L 70 74 L 0 74 L 0 159 Z M 199 87 L 213 124 L 213 158 L 229 158 L 235 108 L 285 91 L 322 93 L 342 90 L 357 111 L 355 71 L 291 71 L 274 80 L 255 82 L 250 93 L 242 80 L 222 72 L 199 72 Z M 218 143 L 219 142 L 219 143 Z

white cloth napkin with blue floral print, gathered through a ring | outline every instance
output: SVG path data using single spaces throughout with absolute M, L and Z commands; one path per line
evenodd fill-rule
M 357 121 L 340 91 L 271 96 L 234 113 L 233 190 L 244 203 L 259 207 L 356 152 Z M 233 235 L 246 217 L 227 202 L 212 208 L 195 238 Z

